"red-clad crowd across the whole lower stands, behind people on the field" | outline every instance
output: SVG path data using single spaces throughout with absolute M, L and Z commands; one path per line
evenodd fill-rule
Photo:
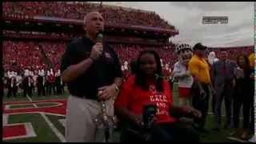
M 39 49 L 42 46 L 42 51 Z M 142 50 L 155 50 L 161 57 L 162 66 L 166 70 L 173 70 L 174 63 L 177 61 L 177 55 L 172 46 L 146 46 L 138 44 L 110 44 L 118 54 L 122 70 L 125 75 L 130 72 L 130 62 L 138 57 Z M 31 70 L 38 68 L 47 68 L 46 59 L 50 60 L 54 70 L 58 70 L 61 57 L 66 48 L 66 42 L 35 42 L 35 41 L 4 41 L 3 42 L 3 66 L 4 69 L 10 70 L 15 62 L 23 70 L 25 67 L 31 67 Z M 210 48 L 208 52 L 214 50 L 220 54 L 221 49 Z M 244 53 L 249 55 L 253 51 L 253 46 L 226 48 L 230 59 L 235 60 L 237 54 Z

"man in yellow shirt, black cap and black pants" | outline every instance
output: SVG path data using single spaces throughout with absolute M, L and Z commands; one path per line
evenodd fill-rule
M 189 62 L 189 70 L 194 77 L 192 105 L 202 113 L 202 118 L 196 122 L 198 124 L 198 130 L 201 132 L 207 132 L 204 126 L 208 112 L 209 98 L 210 94 L 214 93 L 210 81 L 210 66 L 204 58 L 206 48 L 201 43 L 195 44 L 193 48 L 194 55 Z

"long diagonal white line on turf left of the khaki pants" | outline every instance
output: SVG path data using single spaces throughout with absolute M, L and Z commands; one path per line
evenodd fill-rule
M 32 102 L 32 99 L 29 96 L 26 96 L 26 98 L 28 98 L 30 100 L 30 102 Z M 36 104 L 33 103 L 33 106 L 38 108 L 38 106 Z M 53 130 L 54 134 L 56 134 L 56 136 L 58 137 L 58 139 L 61 142 L 66 142 L 66 139 L 64 138 L 64 136 L 61 134 L 61 132 L 54 126 L 54 124 L 52 122 L 50 122 L 50 119 L 47 118 L 46 114 L 41 113 L 42 118 L 45 119 L 46 123 L 50 126 L 50 129 Z

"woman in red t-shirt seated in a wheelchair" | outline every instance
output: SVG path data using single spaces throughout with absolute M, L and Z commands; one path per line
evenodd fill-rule
M 162 77 L 158 54 L 142 51 L 135 74 L 123 83 L 114 102 L 121 126 L 121 141 L 199 141 L 193 126 L 180 118 L 201 118 L 189 106 L 173 106 L 168 82 Z

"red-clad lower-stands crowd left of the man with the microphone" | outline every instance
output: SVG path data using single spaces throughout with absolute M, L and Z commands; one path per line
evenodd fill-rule
M 60 59 L 64 53 L 65 42 L 25 42 L 25 41 L 4 41 L 3 42 L 3 66 L 5 70 L 10 70 L 14 62 L 23 70 L 25 67 L 31 67 L 32 70 L 38 67 L 46 68 L 46 60 L 42 55 L 42 50 L 46 57 L 50 59 L 54 70 L 58 70 Z

